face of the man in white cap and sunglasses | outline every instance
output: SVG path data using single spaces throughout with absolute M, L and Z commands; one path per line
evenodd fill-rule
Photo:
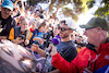
M 59 35 L 60 35 L 61 38 L 66 38 L 71 34 L 70 28 L 64 24 L 60 24 L 60 29 L 59 31 L 60 31 Z

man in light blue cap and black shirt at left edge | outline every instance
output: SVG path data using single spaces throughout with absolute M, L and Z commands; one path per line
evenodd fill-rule
M 0 40 L 7 39 L 10 29 L 15 26 L 15 21 L 11 17 L 13 11 L 13 2 L 11 0 L 4 0 L 1 5 L 0 12 Z

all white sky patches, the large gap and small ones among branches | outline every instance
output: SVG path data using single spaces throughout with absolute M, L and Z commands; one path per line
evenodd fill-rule
M 76 22 L 76 26 L 77 26 L 77 29 L 80 31 L 81 34 L 83 34 L 83 31 L 82 28 L 80 28 L 78 25 L 82 25 L 82 24 L 86 24 L 92 17 L 94 17 L 94 13 L 95 11 L 98 9 L 98 7 L 100 5 L 100 1 L 101 0 L 96 0 L 96 3 L 94 4 L 94 7 L 92 9 L 89 9 L 88 11 L 86 11 L 85 13 L 82 13 L 81 15 L 78 15 L 78 21 Z M 39 4 L 43 7 L 43 9 L 47 9 L 48 4 Z M 72 5 L 68 5 L 69 8 L 72 9 Z M 59 10 L 60 11 L 60 10 Z M 62 19 L 64 17 L 61 13 L 59 13 L 57 15 L 59 19 Z

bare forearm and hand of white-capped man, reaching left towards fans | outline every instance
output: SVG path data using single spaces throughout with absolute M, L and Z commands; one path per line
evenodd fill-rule
M 40 49 L 38 47 L 38 45 L 35 45 L 33 44 L 32 48 L 31 48 L 32 51 L 36 51 L 37 53 L 39 53 L 41 57 L 45 57 L 46 58 L 46 51 Z

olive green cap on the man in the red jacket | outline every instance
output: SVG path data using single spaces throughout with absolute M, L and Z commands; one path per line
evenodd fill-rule
M 105 19 L 93 17 L 86 25 L 80 25 L 81 28 L 101 27 L 104 31 L 109 32 L 109 24 Z

